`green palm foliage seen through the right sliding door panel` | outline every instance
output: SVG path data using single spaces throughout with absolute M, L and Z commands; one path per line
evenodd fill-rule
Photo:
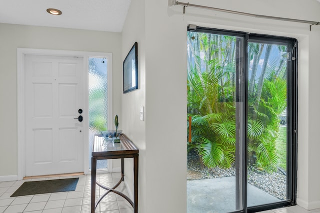
M 251 71 L 248 85 L 248 164 L 266 171 L 276 169 L 275 139 L 279 115 L 286 107 L 284 62 L 279 55 L 269 60 L 271 48 L 267 44 L 265 49 L 260 49 L 265 51 L 260 75 L 252 77 L 255 73 Z M 261 56 L 260 52 L 252 54 Z

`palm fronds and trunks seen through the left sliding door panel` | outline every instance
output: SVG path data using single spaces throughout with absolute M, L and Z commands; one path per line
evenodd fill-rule
M 208 167 L 230 167 L 235 149 L 234 81 L 228 63 L 234 57 L 233 40 L 192 32 L 188 37 L 194 40 L 189 54 L 197 54 L 193 61 L 188 60 L 188 113 L 193 135 L 189 147 L 198 151 Z

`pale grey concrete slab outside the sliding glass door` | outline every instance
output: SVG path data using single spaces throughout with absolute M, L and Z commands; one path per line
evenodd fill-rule
M 187 213 L 227 213 L 235 211 L 235 177 L 186 182 Z M 280 200 L 248 184 L 248 207 Z

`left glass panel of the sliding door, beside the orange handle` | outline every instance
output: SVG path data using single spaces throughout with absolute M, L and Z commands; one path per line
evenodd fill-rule
M 242 52 L 242 37 L 187 33 L 187 213 L 243 209 Z

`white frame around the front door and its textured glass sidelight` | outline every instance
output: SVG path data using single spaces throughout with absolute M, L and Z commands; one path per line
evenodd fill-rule
M 68 56 L 83 58 L 83 78 L 82 78 L 82 94 L 84 94 L 83 112 L 83 173 L 89 172 L 88 159 L 88 58 L 89 57 L 105 57 L 107 63 L 107 79 L 108 79 L 108 117 L 112 118 L 112 53 L 108 52 L 87 52 L 87 51 L 71 51 L 71 50 L 53 50 L 53 49 L 33 49 L 33 48 L 17 48 L 17 180 L 25 177 L 25 55 L 47 55 L 47 56 Z M 112 128 L 112 122 L 108 121 L 108 128 Z

